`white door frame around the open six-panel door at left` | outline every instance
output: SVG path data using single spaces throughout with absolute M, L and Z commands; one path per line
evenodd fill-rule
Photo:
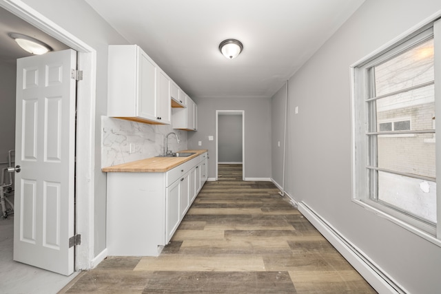
M 96 100 L 96 50 L 20 0 L 1 0 L 0 6 L 77 52 L 83 80 L 76 90 L 75 231 L 81 246 L 75 249 L 75 271 L 92 269 L 101 260 L 94 256 L 94 139 Z M 94 260 L 95 258 L 95 260 Z M 102 257 L 102 258 L 105 258 Z

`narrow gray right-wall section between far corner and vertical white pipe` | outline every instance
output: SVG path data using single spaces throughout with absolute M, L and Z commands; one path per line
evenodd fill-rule
M 287 87 L 281 87 L 271 99 L 271 178 L 283 188 L 283 147 L 285 144 L 285 112 Z M 279 145 L 280 142 L 280 145 Z

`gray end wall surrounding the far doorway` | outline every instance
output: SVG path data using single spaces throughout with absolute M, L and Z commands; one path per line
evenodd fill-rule
M 198 105 L 198 132 L 189 132 L 189 149 L 208 149 L 208 176 L 216 176 L 216 110 L 245 111 L 245 178 L 271 176 L 271 98 L 194 98 Z M 202 146 L 198 146 L 202 141 Z

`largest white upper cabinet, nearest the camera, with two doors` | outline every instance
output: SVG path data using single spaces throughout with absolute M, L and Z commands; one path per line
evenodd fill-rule
M 170 78 L 137 45 L 110 45 L 107 115 L 170 125 Z

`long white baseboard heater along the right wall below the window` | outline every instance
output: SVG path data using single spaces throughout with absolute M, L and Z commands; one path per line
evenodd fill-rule
M 318 216 L 305 202 L 298 202 L 298 210 L 378 293 L 408 293 L 379 266 L 367 258 L 364 252 L 351 244 L 345 236 L 334 229 L 326 220 Z

